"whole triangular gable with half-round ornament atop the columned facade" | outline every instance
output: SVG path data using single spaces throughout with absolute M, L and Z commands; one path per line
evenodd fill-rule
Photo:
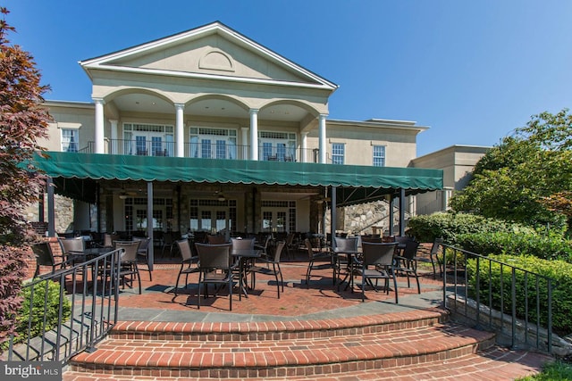
M 218 21 L 80 64 L 88 74 L 98 69 L 291 83 L 332 91 L 338 87 Z

